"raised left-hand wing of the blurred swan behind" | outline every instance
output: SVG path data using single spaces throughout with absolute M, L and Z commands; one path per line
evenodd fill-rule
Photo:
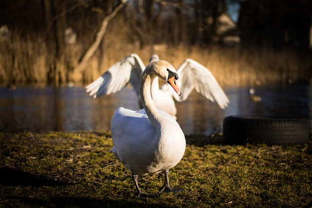
M 102 76 L 86 86 L 86 92 L 96 98 L 99 95 L 109 95 L 123 89 L 129 82 L 139 95 L 140 77 L 145 69 L 141 58 L 131 54 L 111 66 Z

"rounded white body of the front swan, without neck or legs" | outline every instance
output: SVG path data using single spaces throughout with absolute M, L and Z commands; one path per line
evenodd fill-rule
M 114 147 L 111 152 L 138 176 L 171 169 L 183 157 L 185 137 L 182 130 L 168 113 L 159 113 L 162 119 L 156 127 L 144 109 L 132 111 L 121 107 L 113 115 Z

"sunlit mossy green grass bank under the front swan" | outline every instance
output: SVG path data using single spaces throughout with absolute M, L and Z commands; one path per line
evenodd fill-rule
M 297 146 L 222 145 L 222 136 L 186 136 L 171 170 L 179 193 L 138 199 L 109 150 L 107 132 L 0 133 L 0 207 L 274 207 L 312 202 L 312 141 Z M 163 174 L 139 178 L 156 192 Z

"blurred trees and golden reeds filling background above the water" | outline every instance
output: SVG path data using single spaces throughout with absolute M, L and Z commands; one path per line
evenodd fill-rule
M 223 86 L 309 84 L 312 1 L 0 1 L 2 84 L 85 84 L 131 53 L 193 58 Z

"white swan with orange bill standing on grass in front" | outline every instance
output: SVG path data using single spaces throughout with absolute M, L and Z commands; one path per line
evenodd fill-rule
M 132 172 L 139 197 L 156 197 L 144 193 L 138 186 L 138 176 L 165 172 L 165 182 L 160 193 L 181 191 L 169 185 L 169 169 L 176 166 L 185 151 L 185 137 L 176 120 L 168 113 L 158 111 L 151 95 L 151 85 L 156 76 L 167 81 L 181 95 L 175 68 L 166 61 L 154 61 L 144 70 L 139 90 L 144 109 L 132 111 L 118 108 L 111 120 L 114 147 L 111 152 Z

